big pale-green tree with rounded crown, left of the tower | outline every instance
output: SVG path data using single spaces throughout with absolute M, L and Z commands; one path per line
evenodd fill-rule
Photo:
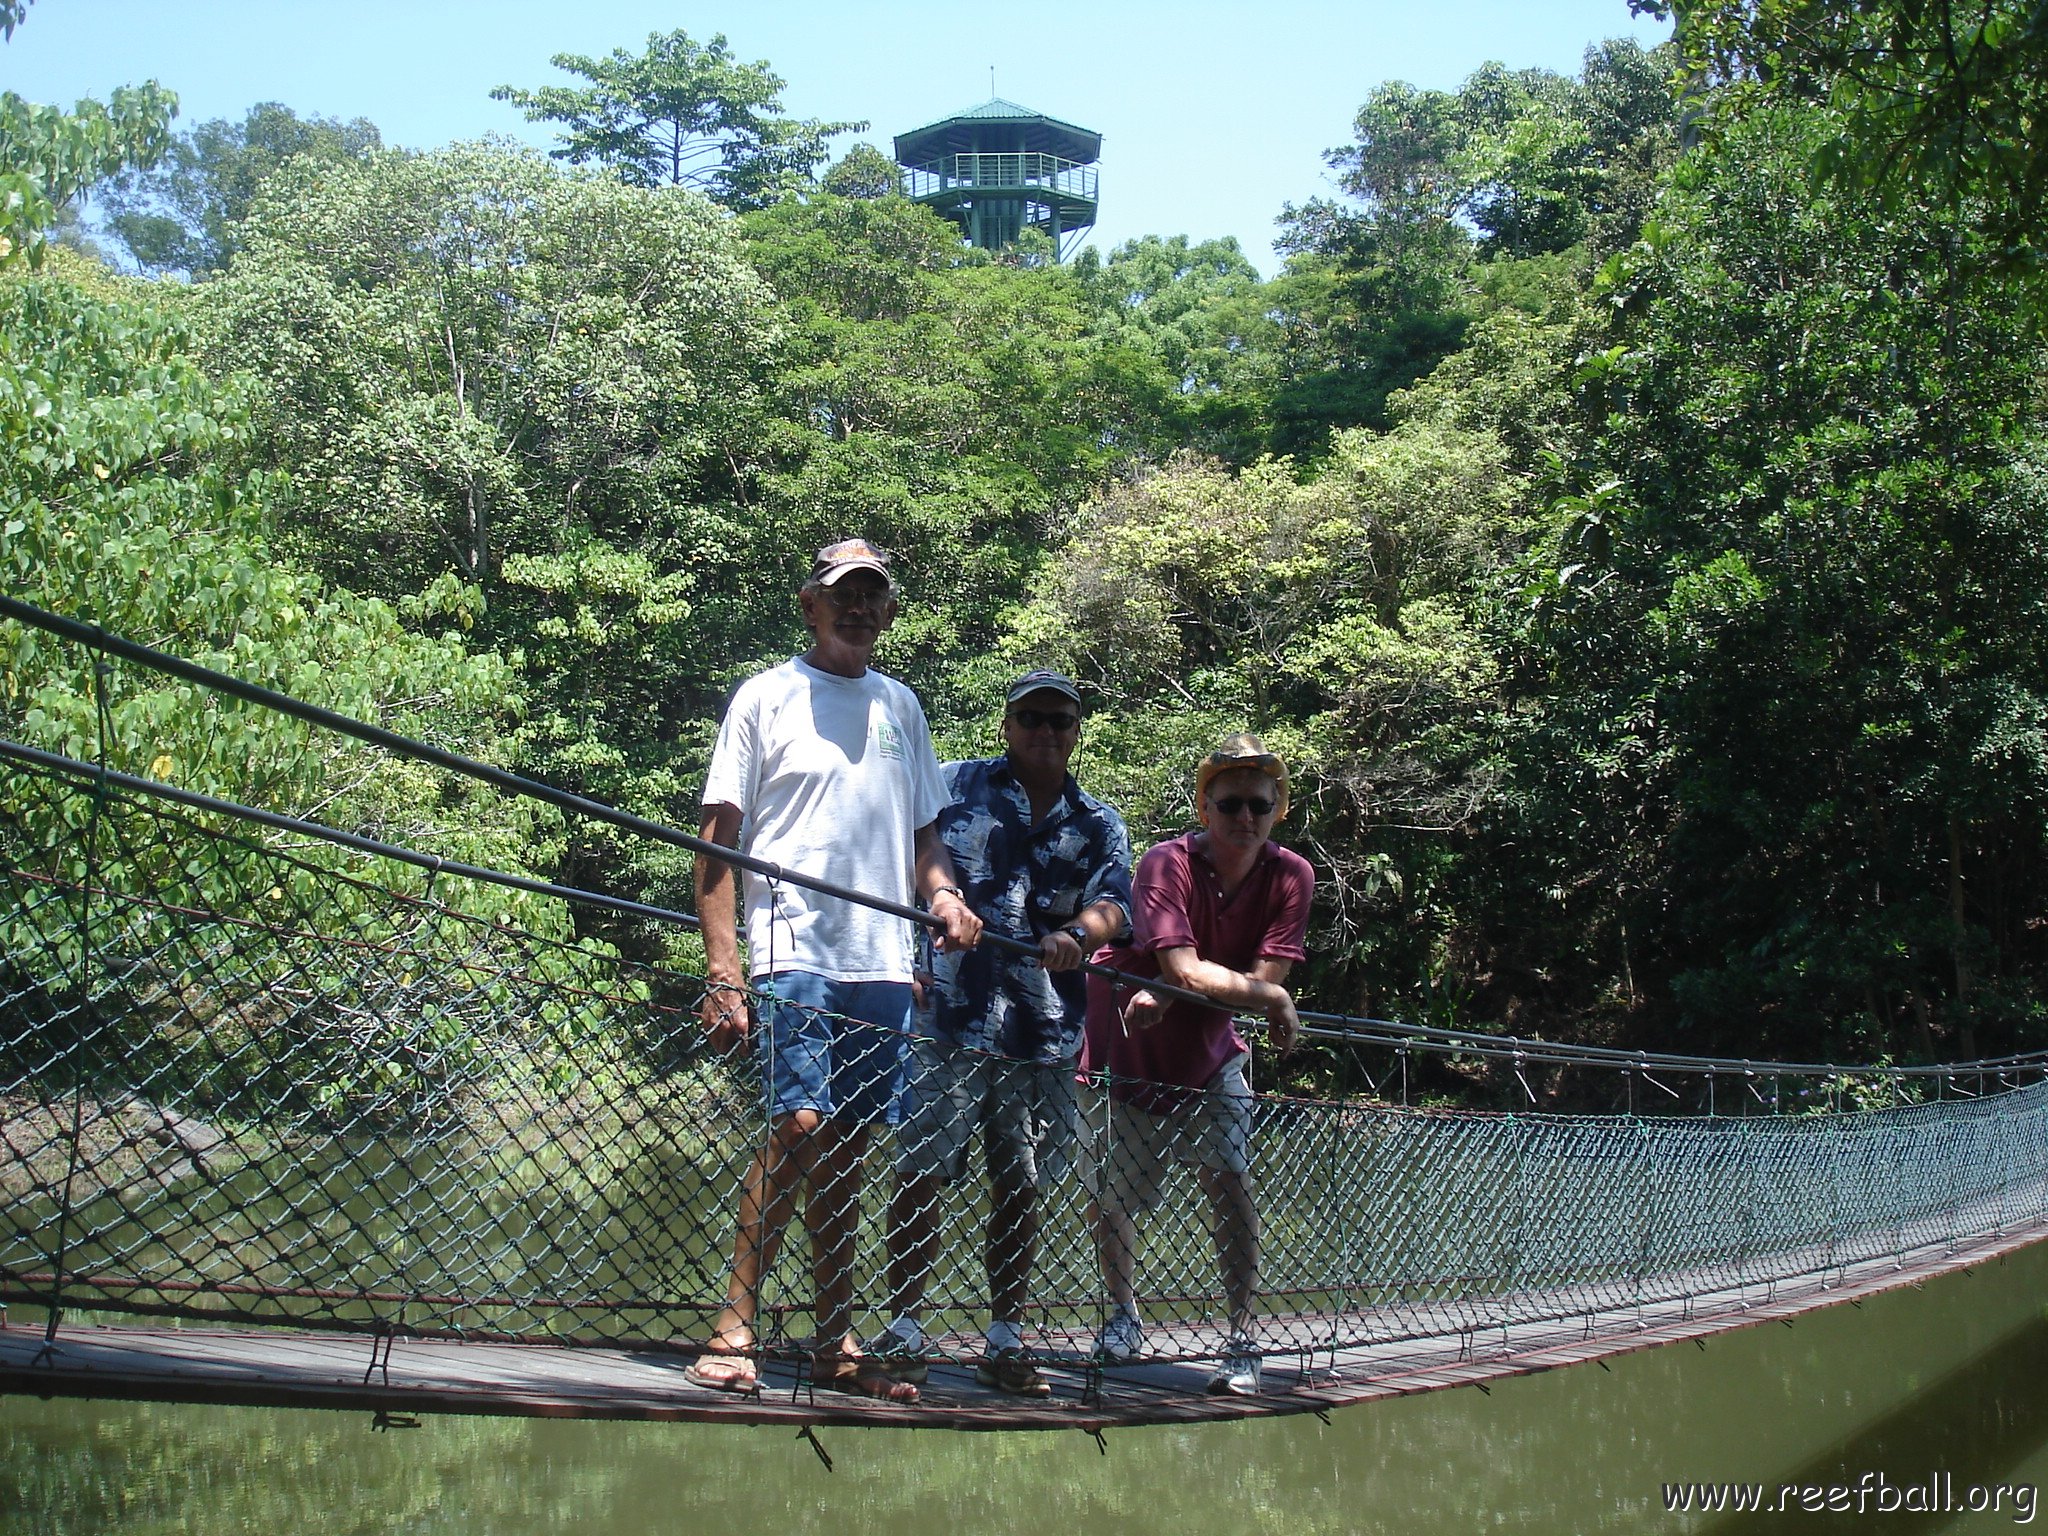
M 524 762 L 672 815 L 723 688 L 694 598 L 750 547 L 770 295 L 731 219 L 489 145 L 287 164 L 193 303 L 324 573 L 524 653 Z M 739 469 L 735 469 L 735 465 Z M 608 834 L 575 879 L 633 885 Z

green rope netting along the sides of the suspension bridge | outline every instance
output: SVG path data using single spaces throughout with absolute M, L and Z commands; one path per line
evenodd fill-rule
M 90 836 L 88 836 L 90 834 Z M 303 1329 L 686 1348 L 725 1296 L 766 1122 L 700 979 L 578 940 L 569 903 L 289 825 L 0 762 L 0 1298 Z M 1409 1108 L 1374 1044 L 1264 1094 L 1260 1343 L 1337 1350 L 1769 1288 L 2044 1214 L 2048 1090 L 1853 1114 Z M 1081 1087 L 1100 1157 L 1102 1083 Z M 1757 1100 L 1761 1104 L 1761 1100 Z M 1757 1104 L 1745 1104 L 1755 1110 Z M 860 1327 L 893 1139 L 866 1151 Z M 1077 1159 L 1040 1198 L 1028 1337 L 1104 1319 Z M 926 1327 L 987 1323 L 987 1186 L 946 1186 Z M 1141 1223 L 1149 1358 L 1225 1303 L 1188 1169 Z M 805 1243 L 766 1348 L 811 1327 Z

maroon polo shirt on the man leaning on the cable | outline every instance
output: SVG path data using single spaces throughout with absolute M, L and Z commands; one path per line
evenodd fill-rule
M 1194 846 L 1200 834 L 1169 838 L 1139 860 L 1130 883 L 1128 946 L 1096 952 L 1135 977 L 1159 975 L 1159 950 L 1194 948 L 1204 961 L 1249 971 L 1262 956 L 1307 961 L 1309 899 L 1315 870 L 1300 854 L 1268 842 L 1243 885 L 1223 899 L 1214 864 Z M 1114 991 L 1114 995 L 1112 995 Z M 1174 1110 L 1186 1094 L 1153 1083 L 1202 1087 L 1223 1065 L 1245 1051 L 1229 1008 L 1174 1001 L 1149 1030 L 1124 1032 L 1122 1004 L 1130 987 L 1102 977 L 1087 979 L 1087 1047 L 1083 1065 L 1112 1079 L 1110 1094 L 1143 1110 Z

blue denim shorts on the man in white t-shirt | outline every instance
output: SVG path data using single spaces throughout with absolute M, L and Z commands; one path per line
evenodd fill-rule
M 768 1118 L 815 1110 L 848 1124 L 895 1124 L 909 1032 L 907 981 L 829 981 L 811 971 L 760 977 Z

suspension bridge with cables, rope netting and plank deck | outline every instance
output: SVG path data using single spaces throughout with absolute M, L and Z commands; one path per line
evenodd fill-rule
M 811 1378 L 799 1253 L 764 1282 L 764 1391 L 705 1391 L 682 1368 L 723 1303 L 764 1133 L 754 1067 L 705 1049 L 686 963 L 578 938 L 575 913 L 672 936 L 694 920 L 133 772 L 152 748 L 117 739 L 109 700 L 170 676 L 295 721 L 309 752 L 696 840 L 14 598 L 0 618 L 80 647 L 100 721 L 90 739 L 0 739 L 0 1307 L 16 1309 L 0 1391 L 381 1423 L 1102 1432 L 1792 1321 L 2048 1233 L 2044 1055 L 1761 1063 L 1305 1012 L 1315 1094 L 1262 1094 L 1253 1128 L 1260 1397 L 1204 1391 L 1225 1303 L 1184 1169 L 1147 1223 L 1128 1364 L 1092 1354 L 1106 1300 L 1069 1174 L 1042 1198 L 1026 1319 L 1055 1393 L 977 1386 L 987 1202 L 967 1180 L 946 1196 L 915 1405 Z M 1425 1067 L 1485 1071 L 1524 1108 L 1411 1102 Z M 1559 1100 L 1604 1108 L 1538 1108 Z M 854 1260 L 870 1307 L 891 1151 L 870 1147 Z

